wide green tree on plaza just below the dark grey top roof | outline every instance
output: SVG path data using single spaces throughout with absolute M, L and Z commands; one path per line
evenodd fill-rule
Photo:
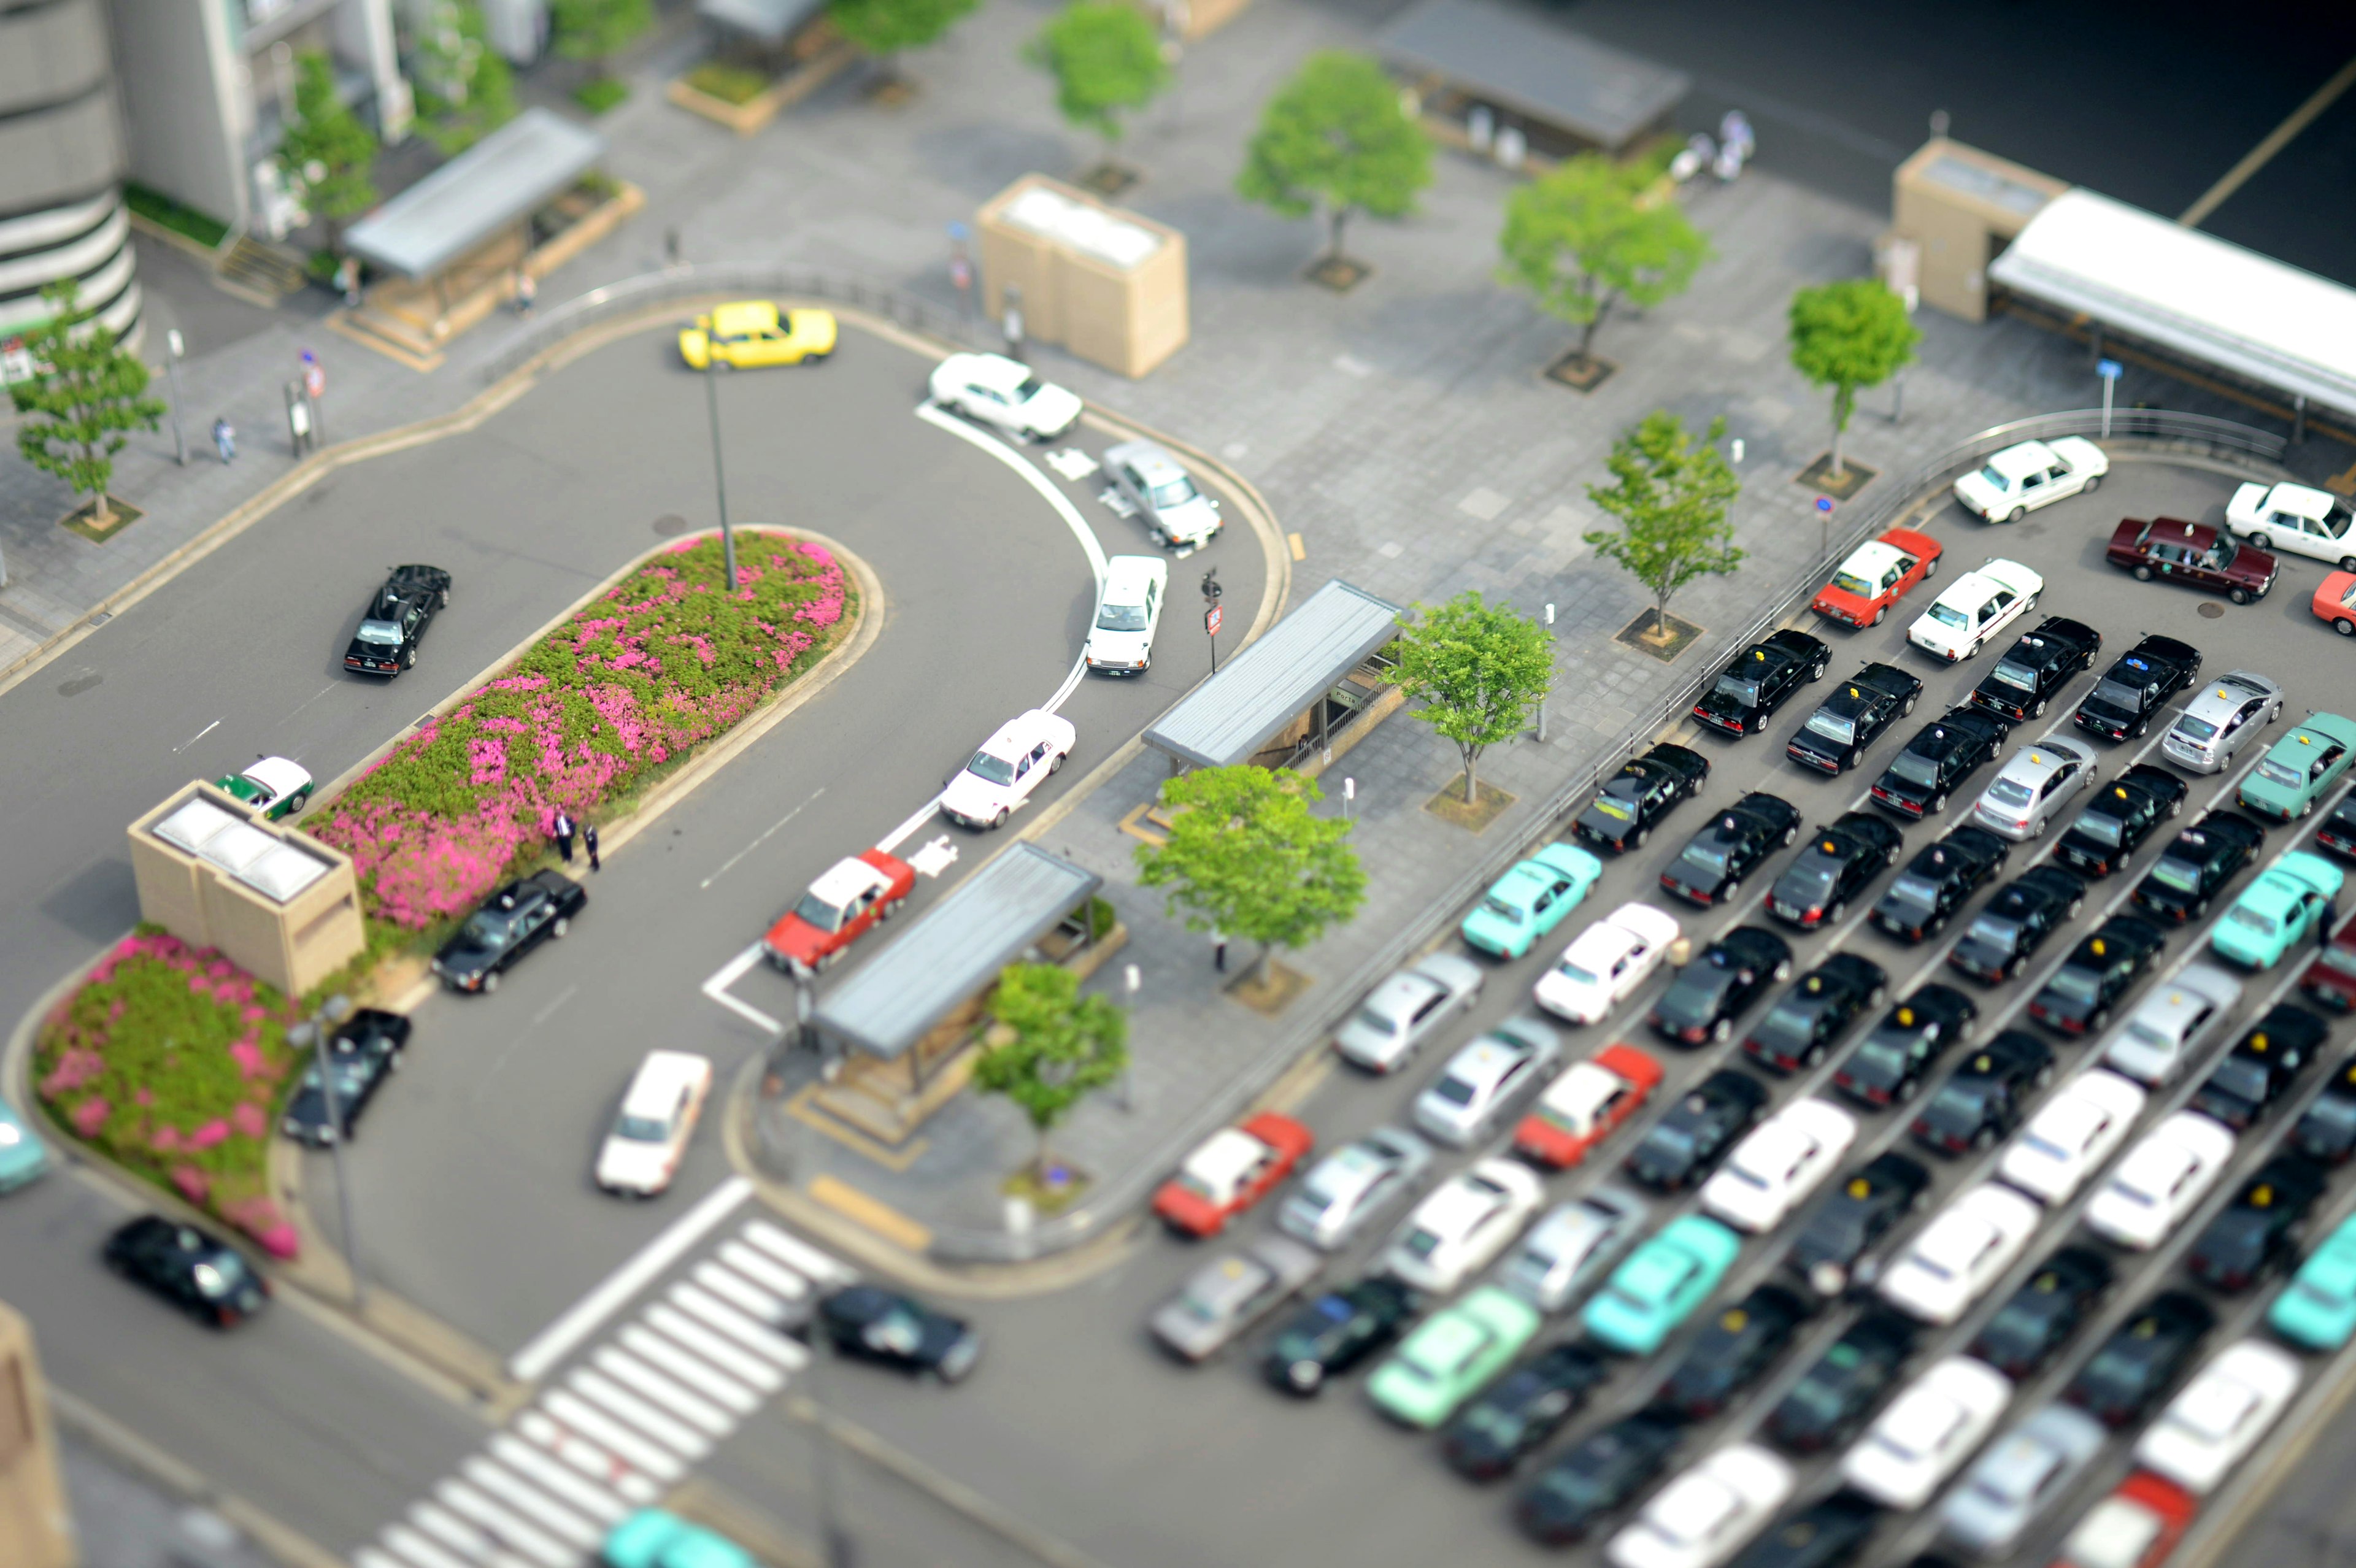
M 1675 200 L 1642 205 L 1649 167 L 1581 153 L 1505 198 L 1505 283 L 1579 327 L 1579 358 L 1623 299 L 1647 308 L 1682 294 L 1710 242 Z

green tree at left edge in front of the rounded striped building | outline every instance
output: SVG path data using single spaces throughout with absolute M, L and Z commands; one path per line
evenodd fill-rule
M 40 292 L 47 320 L 24 330 L 24 348 L 42 367 L 28 381 L 9 381 L 16 405 L 16 450 L 42 473 L 73 485 L 73 494 L 97 497 L 90 520 L 113 523 L 106 485 L 115 478 L 115 452 L 130 445 L 125 431 L 153 431 L 165 414 L 146 396 L 148 370 L 125 353 L 115 334 L 80 304 L 73 278 Z

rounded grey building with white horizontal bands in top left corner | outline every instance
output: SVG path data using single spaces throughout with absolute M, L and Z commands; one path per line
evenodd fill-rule
M 0 0 L 0 381 L 33 372 L 14 339 L 47 320 L 40 290 L 59 278 L 137 346 L 123 162 L 99 0 Z

